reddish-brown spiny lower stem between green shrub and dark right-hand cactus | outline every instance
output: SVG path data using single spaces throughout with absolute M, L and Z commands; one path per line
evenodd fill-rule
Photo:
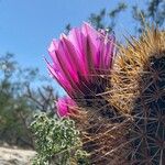
M 87 121 L 86 128 L 82 129 L 82 142 L 84 150 L 90 154 L 90 164 L 127 165 L 130 144 L 127 144 L 129 131 L 125 130 L 129 121 L 111 122 L 91 113 Z

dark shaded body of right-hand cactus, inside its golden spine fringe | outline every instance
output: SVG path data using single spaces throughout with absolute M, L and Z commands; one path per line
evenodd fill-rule
M 165 164 L 165 56 L 148 58 L 139 79 L 140 96 L 134 102 L 131 160 L 141 164 Z

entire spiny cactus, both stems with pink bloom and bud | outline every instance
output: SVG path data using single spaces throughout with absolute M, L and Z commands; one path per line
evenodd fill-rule
M 88 23 L 52 42 L 48 69 L 77 108 L 61 112 L 75 120 L 90 164 L 165 164 L 164 40 L 146 29 L 119 45 L 114 66 L 114 37 Z

